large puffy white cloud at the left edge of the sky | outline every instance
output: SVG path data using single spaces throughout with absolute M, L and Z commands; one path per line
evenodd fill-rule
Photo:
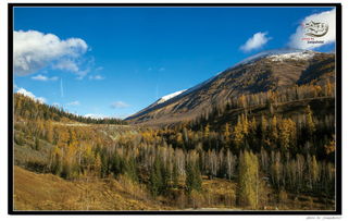
M 37 30 L 14 30 L 13 69 L 15 75 L 33 74 L 63 59 L 76 60 L 88 49 L 80 38 L 61 40 L 53 34 Z M 66 70 L 70 71 L 70 70 Z

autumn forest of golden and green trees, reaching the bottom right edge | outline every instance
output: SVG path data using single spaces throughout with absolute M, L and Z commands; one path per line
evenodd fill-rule
M 334 88 L 232 97 L 158 127 L 77 116 L 15 94 L 15 164 L 72 182 L 127 177 L 173 209 L 334 209 Z M 217 197 L 210 181 L 234 189 Z

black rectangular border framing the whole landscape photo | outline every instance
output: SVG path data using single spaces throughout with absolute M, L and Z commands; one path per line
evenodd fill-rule
M 45 8 L 45 7 L 192 7 L 192 8 L 222 8 L 222 7 L 334 7 L 336 8 L 336 210 L 334 211 L 18 211 L 13 207 L 13 10 L 14 8 Z M 341 207 L 341 4 L 340 3 L 8 3 L 8 213 L 9 214 L 342 214 Z

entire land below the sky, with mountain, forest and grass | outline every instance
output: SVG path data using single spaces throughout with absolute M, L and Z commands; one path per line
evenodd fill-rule
M 335 57 L 264 52 L 125 119 L 14 94 L 16 210 L 335 210 Z

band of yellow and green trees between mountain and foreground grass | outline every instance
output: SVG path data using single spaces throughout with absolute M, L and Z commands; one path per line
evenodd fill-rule
M 325 89 L 310 88 L 286 91 L 297 93 L 295 99 L 307 98 L 308 94 L 333 96 L 329 83 Z M 169 197 L 172 189 L 183 189 L 191 196 L 202 192 L 203 179 L 224 179 L 237 183 L 236 204 L 253 209 L 260 208 L 267 186 L 281 195 L 288 192 L 334 198 L 334 114 L 316 118 L 307 106 L 295 118 L 272 111 L 257 116 L 245 111 L 236 121 L 220 127 L 210 125 L 208 119 L 214 118 L 215 111 L 224 114 L 225 110 L 255 105 L 255 100 L 273 107 L 285 97 L 291 99 L 276 93 L 266 93 L 269 98 L 264 101 L 258 99 L 261 95 L 249 96 L 238 98 L 240 105 L 224 106 L 224 110 L 214 107 L 209 116 L 192 122 L 115 131 L 108 126 L 59 124 L 57 121 L 70 113 L 15 95 L 14 128 L 23 133 L 15 133 L 14 142 L 25 145 L 32 140 L 37 151 L 42 148 L 40 140 L 52 145 L 47 163 L 38 167 L 41 172 L 67 180 L 126 175 L 135 183 L 146 184 L 153 197 Z

